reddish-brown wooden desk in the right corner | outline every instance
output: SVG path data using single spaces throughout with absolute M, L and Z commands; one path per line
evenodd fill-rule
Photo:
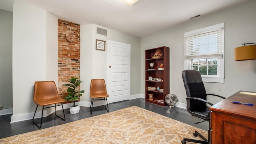
M 210 107 L 211 144 L 256 144 L 256 96 L 240 92 Z

